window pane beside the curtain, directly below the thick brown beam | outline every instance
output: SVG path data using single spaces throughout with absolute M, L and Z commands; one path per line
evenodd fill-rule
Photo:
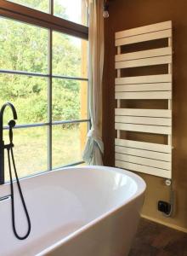
M 53 74 L 87 78 L 87 53 L 87 41 L 54 32 Z

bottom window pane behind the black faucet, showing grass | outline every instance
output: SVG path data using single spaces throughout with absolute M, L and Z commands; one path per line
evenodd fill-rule
M 14 129 L 14 159 L 19 177 L 48 169 L 48 128 Z M 3 131 L 8 143 L 8 130 Z M 5 150 L 5 179 L 9 180 L 7 152 Z

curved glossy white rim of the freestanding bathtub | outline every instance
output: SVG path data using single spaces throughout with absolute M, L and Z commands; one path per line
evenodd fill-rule
M 135 183 L 138 183 L 137 191 L 132 196 L 129 196 L 127 201 L 119 204 L 117 207 L 111 207 L 111 209 L 109 211 L 103 213 L 98 218 L 94 218 L 88 224 L 83 225 L 78 230 L 73 231 L 70 235 L 65 236 L 65 238 L 62 238 L 59 241 L 56 241 L 53 245 L 45 248 L 40 253 L 37 253 L 37 256 L 42 256 L 42 255 L 45 255 L 47 253 L 52 253 L 57 247 L 62 246 L 63 244 L 65 244 L 65 242 L 71 241 L 71 239 L 74 239 L 75 237 L 79 236 L 80 234 L 82 234 L 82 232 L 90 229 L 92 226 L 94 226 L 94 224 L 98 224 L 104 218 L 109 217 L 111 214 L 119 211 L 122 207 L 124 207 L 125 205 L 135 201 L 138 197 L 140 197 L 141 195 L 144 194 L 144 191 L 146 189 L 146 183 L 144 182 L 144 179 L 142 177 L 139 177 L 139 175 L 137 175 L 133 172 L 130 172 L 130 171 L 127 171 L 127 170 L 124 170 L 124 169 L 121 169 L 121 168 L 116 168 L 116 167 L 111 167 L 111 166 L 70 166 L 70 167 L 60 168 L 58 170 L 54 170 L 54 171 L 51 171 L 51 172 L 59 172 L 59 171 L 65 170 L 65 169 L 72 169 L 72 170 L 74 170 L 74 169 L 91 169 L 91 170 L 92 169 L 98 169 L 98 170 L 101 170 L 102 169 L 102 170 L 105 170 L 106 168 L 113 171 L 113 172 L 120 172 L 122 174 L 127 175 L 128 177 L 131 177 L 135 181 Z M 41 173 L 41 174 L 38 174 L 38 175 L 44 175 L 44 174 L 45 173 Z

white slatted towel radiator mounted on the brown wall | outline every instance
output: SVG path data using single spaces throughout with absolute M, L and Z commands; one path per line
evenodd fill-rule
M 161 40 L 164 47 L 159 43 Z M 117 48 L 115 165 L 135 172 L 171 178 L 172 22 L 161 22 L 116 32 L 115 41 Z M 158 46 L 154 48 L 154 44 Z M 129 46 L 131 51 L 127 51 Z M 136 47 L 138 50 L 134 51 Z M 159 66 L 165 68 L 165 72 L 126 75 L 126 71 L 131 73 L 129 71 L 132 68 L 139 71 L 146 67 L 159 69 Z M 128 108 L 129 104 L 126 104 L 129 101 L 131 101 L 130 108 Z M 150 104 L 151 101 L 161 101 L 166 104 L 164 108 L 132 108 L 132 102 L 137 101 L 149 101 Z M 146 140 L 127 139 L 122 136 L 127 132 L 147 133 L 149 136 L 162 135 L 166 140 L 164 143 L 152 143 Z

